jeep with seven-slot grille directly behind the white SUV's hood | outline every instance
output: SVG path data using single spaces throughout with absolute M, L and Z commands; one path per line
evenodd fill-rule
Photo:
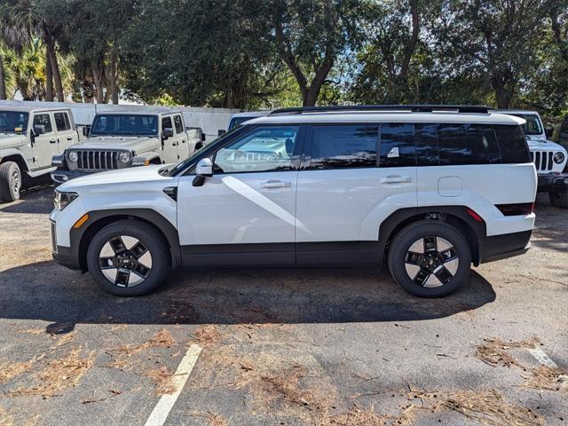
M 56 184 L 105 170 L 179 162 L 204 144 L 200 128 L 186 128 L 170 110 L 95 115 L 88 138 L 52 159 Z

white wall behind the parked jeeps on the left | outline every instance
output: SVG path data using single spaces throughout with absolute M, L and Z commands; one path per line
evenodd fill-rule
M 193 106 L 176 106 L 170 108 L 168 106 L 134 106 L 134 105 L 97 105 L 97 104 L 79 104 L 74 102 L 42 102 L 31 100 L 0 100 L 0 106 L 36 106 L 42 108 L 58 108 L 66 107 L 71 109 L 76 124 L 91 124 L 92 119 L 97 112 L 101 111 L 151 111 L 155 109 L 170 109 L 181 111 L 184 114 L 185 125 L 191 127 L 201 127 L 203 133 L 207 136 L 208 142 L 217 138 L 217 132 L 220 129 L 226 130 L 229 119 L 234 113 L 238 113 L 240 109 L 225 108 L 199 108 Z

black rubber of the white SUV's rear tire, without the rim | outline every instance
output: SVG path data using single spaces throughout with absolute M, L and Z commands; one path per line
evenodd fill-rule
M 406 273 L 405 259 L 408 248 L 421 238 L 437 236 L 449 241 L 456 249 L 460 258 L 458 270 L 454 279 L 449 283 L 438 288 L 423 288 L 411 280 Z M 471 267 L 471 251 L 468 241 L 453 226 L 443 223 L 429 223 L 423 221 L 418 224 L 406 226 L 400 231 L 389 250 L 389 269 L 390 274 L 397 281 L 398 285 L 405 288 L 410 294 L 419 297 L 440 297 L 453 293 L 463 284 L 469 275 Z

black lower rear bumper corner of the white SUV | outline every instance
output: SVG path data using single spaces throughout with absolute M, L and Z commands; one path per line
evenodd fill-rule
M 525 254 L 531 248 L 533 231 L 505 233 L 485 237 L 480 241 L 480 264 Z

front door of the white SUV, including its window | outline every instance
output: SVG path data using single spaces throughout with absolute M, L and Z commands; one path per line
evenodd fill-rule
M 180 177 L 177 229 L 187 264 L 294 264 L 297 126 L 241 134 L 212 156 L 214 175 Z

